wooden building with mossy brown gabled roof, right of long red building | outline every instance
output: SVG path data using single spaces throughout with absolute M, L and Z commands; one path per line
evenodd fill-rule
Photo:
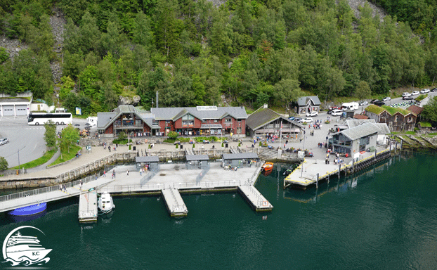
M 282 130 L 281 130 L 282 124 Z M 289 120 L 287 117 L 267 108 L 267 104 L 254 111 L 246 120 L 249 136 L 265 136 L 267 134 L 292 136 L 297 139 L 301 133 L 301 125 Z

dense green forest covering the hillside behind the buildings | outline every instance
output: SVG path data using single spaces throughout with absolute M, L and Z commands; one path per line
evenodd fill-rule
M 0 49 L 0 93 L 31 90 L 53 101 L 50 63 L 62 62 L 59 98 L 84 113 L 118 96 L 150 108 L 285 107 L 298 96 L 386 94 L 433 84 L 436 0 L 374 0 L 354 15 L 346 0 L 4 0 L 0 31 L 28 45 Z M 336 4 L 337 3 L 337 4 Z M 53 52 L 53 8 L 65 14 L 63 53 Z

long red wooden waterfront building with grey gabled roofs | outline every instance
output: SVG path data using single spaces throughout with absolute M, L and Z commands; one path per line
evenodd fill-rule
M 180 135 L 241 134 L 246 131 L 244 107 L 197 106 L 151 108 L 150 112 L 120 105 L 112 112 L 98 113 L 97 128 L 105 136 L 121 131 L 132 136 L 164 136 L 169 131 Z

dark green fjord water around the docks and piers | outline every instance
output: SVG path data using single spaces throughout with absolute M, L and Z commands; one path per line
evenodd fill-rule
M 111 217 L 81 225 L 72 199 L 32 221 L 2 215 L 0 237 L 44 231 L 50 269 L 437 269 L 435 155 L 391 158 L 318 190 L 283 190 L 285 169 L 256 184 L 268 214 L 237 193 L 183 195 L 183 219 L 159 197 L 115 197 Z

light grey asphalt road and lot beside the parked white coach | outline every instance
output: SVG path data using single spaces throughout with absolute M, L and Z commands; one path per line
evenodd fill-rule
M 79 128 L 84 129 L 86 120 L 73 118 L 73 124 L 79 124 Z M 57 131 L 63 127 L 58 126 Z M 26 116 L 0 117 L 0 138 L 9 139 L 9 143 L 0 146 L 0 157 L 6 158 L 9 167 L 41 158 L 46 151 L 44 131 L 44 126 L 28 125 Z

